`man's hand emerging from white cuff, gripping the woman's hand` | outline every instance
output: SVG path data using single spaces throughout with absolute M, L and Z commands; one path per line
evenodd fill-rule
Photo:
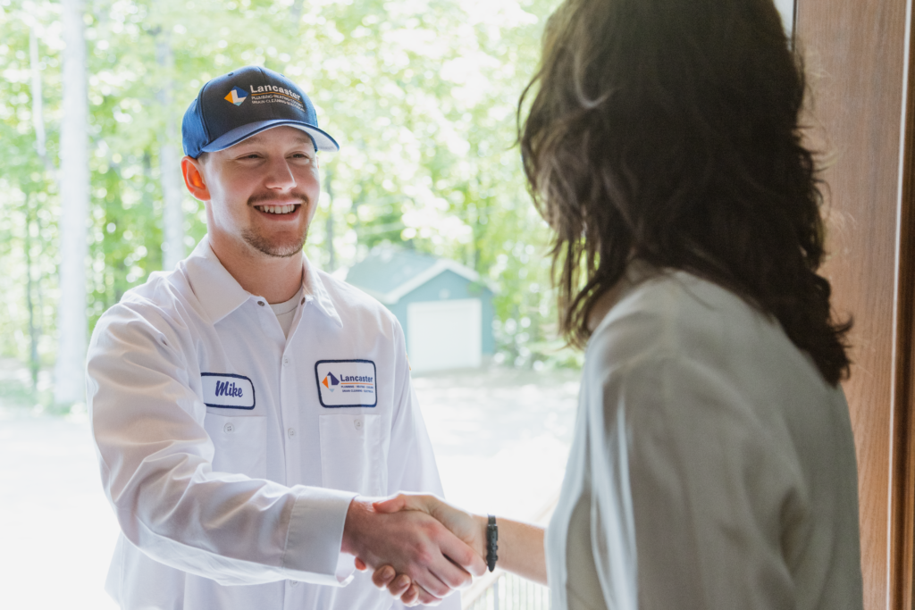
M 416 597 L 423 604 L 436 604 L 470 583 L 471 574 L 479 576 L 486 571 L 479 553 L 430 514 L 395 508 L 399 505 L 386 502 L 379 506 L 382 510 L 361 497 L 350 503 L 341 551 L 359 558 L 357 567 L 377 570 L 391 566 L 421 588 Z

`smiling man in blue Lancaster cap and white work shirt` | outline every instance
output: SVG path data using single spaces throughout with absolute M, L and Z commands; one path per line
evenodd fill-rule
M 390 607 L 354 557 L 409 574 L 425 602 L 467 583 L 479 556 L 366 498 L 440 483 L 403 331 L 302 253 L 317 152 L 338 149 L 307 95 L 235 70 L 203 86 L 182 134 L 208 235 L 106 312 L 89 348 L 122 529 L 107 590 L 124 608 Z

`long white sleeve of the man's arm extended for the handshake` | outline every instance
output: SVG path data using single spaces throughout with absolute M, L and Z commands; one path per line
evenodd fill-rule
M 87 359 L 102 485 L 124 536 L 157 562 L 221 584 L 339 585 L 355 494 L 213 472 L 194 368 L 178 333 L 150 318 L 116 306 L 96 326 Z

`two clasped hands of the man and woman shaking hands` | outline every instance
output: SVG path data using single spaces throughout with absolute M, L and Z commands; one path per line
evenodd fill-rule
M 350 503 L 341 551 L 405 605 L 435 605 L 486 572 L 487 519 L 431 495 Z M 543 547 L 541 547 L 543 548 Z M 543 551 L 541 551 L 543 552 Z

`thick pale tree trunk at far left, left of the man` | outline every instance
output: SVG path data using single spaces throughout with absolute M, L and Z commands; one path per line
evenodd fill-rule
M 63 121 L 60 124 L 60 266 L 58 355 L 54 401 L 66 405 L 85 396 L 86 232 L 89 218 L 89 102 L 86 40 L 81 0 L 62 0 Z

